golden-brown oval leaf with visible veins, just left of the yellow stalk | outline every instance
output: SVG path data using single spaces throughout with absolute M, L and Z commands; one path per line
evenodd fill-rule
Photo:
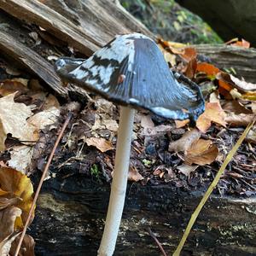
M 210 165 L 218 156 L 218 148 L 210 140 L 199 139 L 191 145 L 185 155 L 185 163 L 199 166 Z

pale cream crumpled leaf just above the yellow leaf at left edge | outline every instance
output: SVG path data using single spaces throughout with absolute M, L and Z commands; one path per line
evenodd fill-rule
M 20 172 L 27 174 L 28 167 L 31 164 L 33 156 L 33 148 L 22 145 L 14 146 L 10 150 L 10 160 L 8 160 L 9 167 L 12 167 Z

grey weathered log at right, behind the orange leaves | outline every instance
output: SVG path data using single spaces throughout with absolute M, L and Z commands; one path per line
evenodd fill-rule
M 232 67 L 236 76 L 243 77 L 247 82 L 256 82 L 256 49 L 245 49 L 224 44 L 197 44 L 198 53 L 206 55 L 211 63 L 222 69 Z

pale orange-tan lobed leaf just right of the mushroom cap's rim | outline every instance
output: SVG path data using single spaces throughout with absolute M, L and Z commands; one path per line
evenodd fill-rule
M 226 113 L 218 102 L 207 102 L 205 112 L 196 121 L 196 127 L 202 132 L 207 132 L 212 122 L 225 126 L 225 117 Z

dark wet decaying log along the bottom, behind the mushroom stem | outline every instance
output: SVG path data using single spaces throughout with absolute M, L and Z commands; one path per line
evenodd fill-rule
M 30 235 L 36 255 L 96 255 L 108 207 L 109 186 L 81 175 L 44 184 Z M 172 255 L 202 193 L 129 184 L 114 255 L 161 255 L 148 228 Z M 256 199 L 212 195 L 196 221 L 182 255 L 253 255 Z M 255 255 L 255 254 L 254 254 Z

